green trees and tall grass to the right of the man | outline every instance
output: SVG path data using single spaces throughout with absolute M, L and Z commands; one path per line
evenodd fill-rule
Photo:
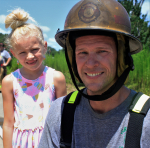
M 145 0 L 118 0 L 127 10 L 131 20 L 131 34 L 143 44 L 143 51 L 133 55 L 135 70 L 130 72 L 127 86 L 150 95 L 150 25 L 147 14 L 141 13 Z

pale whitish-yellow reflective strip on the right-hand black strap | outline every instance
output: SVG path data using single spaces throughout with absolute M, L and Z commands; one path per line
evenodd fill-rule
M 136 105 L 134 106 L 134 108 L 132 109 L 132 111 L 136 112 L 136 113 L 140 113 L 140 111 L 142 110 L 144 104 L 146 103 L 146 101 L 149 99 L 149 96 L 143 94 L 138 102 L 136 103 Z

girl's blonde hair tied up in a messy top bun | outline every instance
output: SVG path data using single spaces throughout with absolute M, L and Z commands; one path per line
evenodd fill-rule
M 29 16 L 27 12 L 18 8 L 13 10 L 5 19 L 5 28 L 10 27 L 11 33 L 6 39 L 6 44 L 13 49 L 14 45 L 17 44 L 17 40 L 21 37 L 35 36 L 44 45 L 44 37 L 42 30 L 35 24 L 26 23 L 28 20 L 36 23 L 36 21 Z

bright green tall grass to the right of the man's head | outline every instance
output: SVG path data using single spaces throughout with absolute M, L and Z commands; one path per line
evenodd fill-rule
M 132 56 L 135 69 L 130 72 L 127 86 L 150 95 L 150 51 L 146 46 L 144 49 Z

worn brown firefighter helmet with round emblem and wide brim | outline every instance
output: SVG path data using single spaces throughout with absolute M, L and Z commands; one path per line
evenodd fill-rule
M 72 31 L 109 31 L 128 37 L 130 53 L 142 50 L 141 42 L 131 34 L 131 24 L 125 8 L 116 0 L 81 0 L 68 13 L 64 30 L 55 39 L 65 47 L 67 34 Z

